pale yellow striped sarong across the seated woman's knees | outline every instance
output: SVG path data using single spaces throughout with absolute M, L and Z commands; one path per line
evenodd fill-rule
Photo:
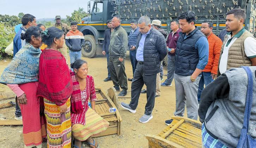
M 72 126 L 72 135 L 75 139 L 85 141 L 92 135 L 105 131 L 109 122 L 99 116 L 95 110 L 89 108 L 85 113 L 86 124 L 74 124 Z

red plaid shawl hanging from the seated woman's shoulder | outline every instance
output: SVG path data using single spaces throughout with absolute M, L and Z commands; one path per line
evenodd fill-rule
M 79 86 L 79 82 L 75 73 L 70 70 L 71 79 L 73 82 L 73 92 L 71 95 L 71 111 L 73 113 L 80 113 L 83 111 L 82 98 L 81 98 L 81 90 Z

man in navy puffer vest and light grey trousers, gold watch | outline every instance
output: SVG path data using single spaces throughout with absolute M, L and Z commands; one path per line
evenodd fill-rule
M 195 28 L 196 16 L 187 11 L 178 16 L 181 32 L 175 50 L 175 116 L 183 116 L 187 106 L 188 118 L 197 120 L 197 90 L 201 72 L 208 63 L 209 44 L 206 36 Z M 169 125 L 171 120 L 166 120 Z

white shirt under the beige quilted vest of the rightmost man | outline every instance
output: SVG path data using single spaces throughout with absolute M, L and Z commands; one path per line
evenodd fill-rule
M 223 53 L 221 54 L 221 57 L 220 57 L 220 63 L 219 63 L 220 74 L 225 73 L 227 70 L 228 50 L 229 50 L 230 46 L 234 43 L 234 41 L 236 41 L 236 39 L 237 39 L 236 35 L 234 35 L 231 42 L 226 47 L 228 40 L 231 39 L 231 34 L 229 34 L 227 36 L 228 36 L 228 39 L 223 48 Z M 244 40 L 244 52 L 248 58 L 256 57 L 256 48 L 255 47 L 256 47 L 255 38 L 248 37 Z

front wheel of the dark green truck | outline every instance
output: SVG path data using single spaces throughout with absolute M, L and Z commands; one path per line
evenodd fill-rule
M 85 46 L 82 48 L 82 55 L 86 58 L 96 56 L 96 41 L 93 35 L 85 35 Z

